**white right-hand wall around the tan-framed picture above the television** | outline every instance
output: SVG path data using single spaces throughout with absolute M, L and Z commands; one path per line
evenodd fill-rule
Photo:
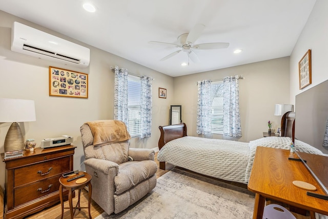
M 290 58 L 290 99 L 328 79 L 328 1 L 317 0 L 308 22 L 301 32 Z M 311 49 L 312 84 L 299 90 L 298 62 Z

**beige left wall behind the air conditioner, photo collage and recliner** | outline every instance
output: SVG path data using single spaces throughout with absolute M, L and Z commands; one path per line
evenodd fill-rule
M 13 21 L 26 24 L 50 34 L 78 43 L 91 50 L 90 66 L 78 69 L 56 62 L 40 60 L 10 50 Z M 122 48 L 124 49 L 124 48 Z M 114 73 L 111 66 L 127 68 L 137 75 L 148 75 L 153 81 L 152 137 L 134 138 L 131 147 L 155 148 L 158 145 L 159 125 L 169 122 L 169 107 L 173 100 L 173 78 L 103 50 L 93 48 L 77 40 L 30 23 L 27 20 L 0 11 L 0 98 L 31 99 L 35 101 L 36 121 L 20 123 L 25 139 L 34 138 L 40 146 L 44 138 L 70 135 L 77 146 L 74 169 L 84 160 L 79 127 L 87 121 L 113 119 Z M 89 98 L 49 96 L 49 66 L 65 68 L 89 74 Z M 158 87 L 168 90 L 167 99 L 158 98 Z M 0 152 L 10 123 L 0 123 Z M 5 163 L 0 162 L 0 185 L 4 188 Z

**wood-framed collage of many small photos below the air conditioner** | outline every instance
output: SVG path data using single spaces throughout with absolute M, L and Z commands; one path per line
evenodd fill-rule
M 88 98 L 88 75 L 50 66 L 49 96 Z

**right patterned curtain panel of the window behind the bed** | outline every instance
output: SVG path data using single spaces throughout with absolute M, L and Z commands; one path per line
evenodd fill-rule
M 223 78 L 223 136 L 241 137 L 238 75 Z

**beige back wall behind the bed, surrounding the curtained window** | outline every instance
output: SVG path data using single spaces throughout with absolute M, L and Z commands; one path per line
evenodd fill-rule
M 188 135 L 196 134 L 198 80 L 217 80 L 230 75 L 243 75 L 239 80 L 239 101 L 242 137 L 249 142 L 268 132 L 268 120 L 272 128 L 280 127 L 281 117 L 274 116 L 277 103 L 289 102 L 289 57 L 261 61 L 237 67 L 174 78 L 174 104 L 182 105 L 182 121 L 187 124 Z M 222 135 L 213 135 L 222 138 Z

